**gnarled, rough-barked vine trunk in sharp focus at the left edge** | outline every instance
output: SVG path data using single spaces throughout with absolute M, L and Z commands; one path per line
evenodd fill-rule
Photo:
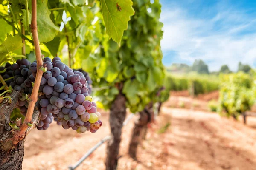
M 24 156 L 24 139 L 13 145 L 12 128 L 9 125 L 10 116 L 17 107 L 20 92 L 13 91 L 11 103 L 6 99 L 0 104 L 0 170 L 22 170 Z

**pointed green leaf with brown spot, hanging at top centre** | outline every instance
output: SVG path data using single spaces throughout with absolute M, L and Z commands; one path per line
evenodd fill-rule
M 128 21 L 134 15 L 131 0 L 100 0 L 106 33 L 120 46 Z

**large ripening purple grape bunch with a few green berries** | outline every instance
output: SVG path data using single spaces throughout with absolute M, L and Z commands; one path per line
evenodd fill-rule
M 37 103 L 42 115 L 52 116 L 64 129 L 78 133 L 95 133 L 102 125 L 101 114 L 88 94 L 87 79 L 80 71 L 73 71 L 59 57 L 44 58 L 44 72 L 39 90 L 43 96 Z M 40 130 L 40 129 L 39 129 Z

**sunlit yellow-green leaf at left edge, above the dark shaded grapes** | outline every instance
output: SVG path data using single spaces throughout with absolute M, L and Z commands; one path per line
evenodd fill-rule
M 18 34 L 14 37 L 11 34 L 7 34 L 6 40 L 0 45 L 0 59 L 4 59 L 7 54 L 22 46 L 22 38 Z

